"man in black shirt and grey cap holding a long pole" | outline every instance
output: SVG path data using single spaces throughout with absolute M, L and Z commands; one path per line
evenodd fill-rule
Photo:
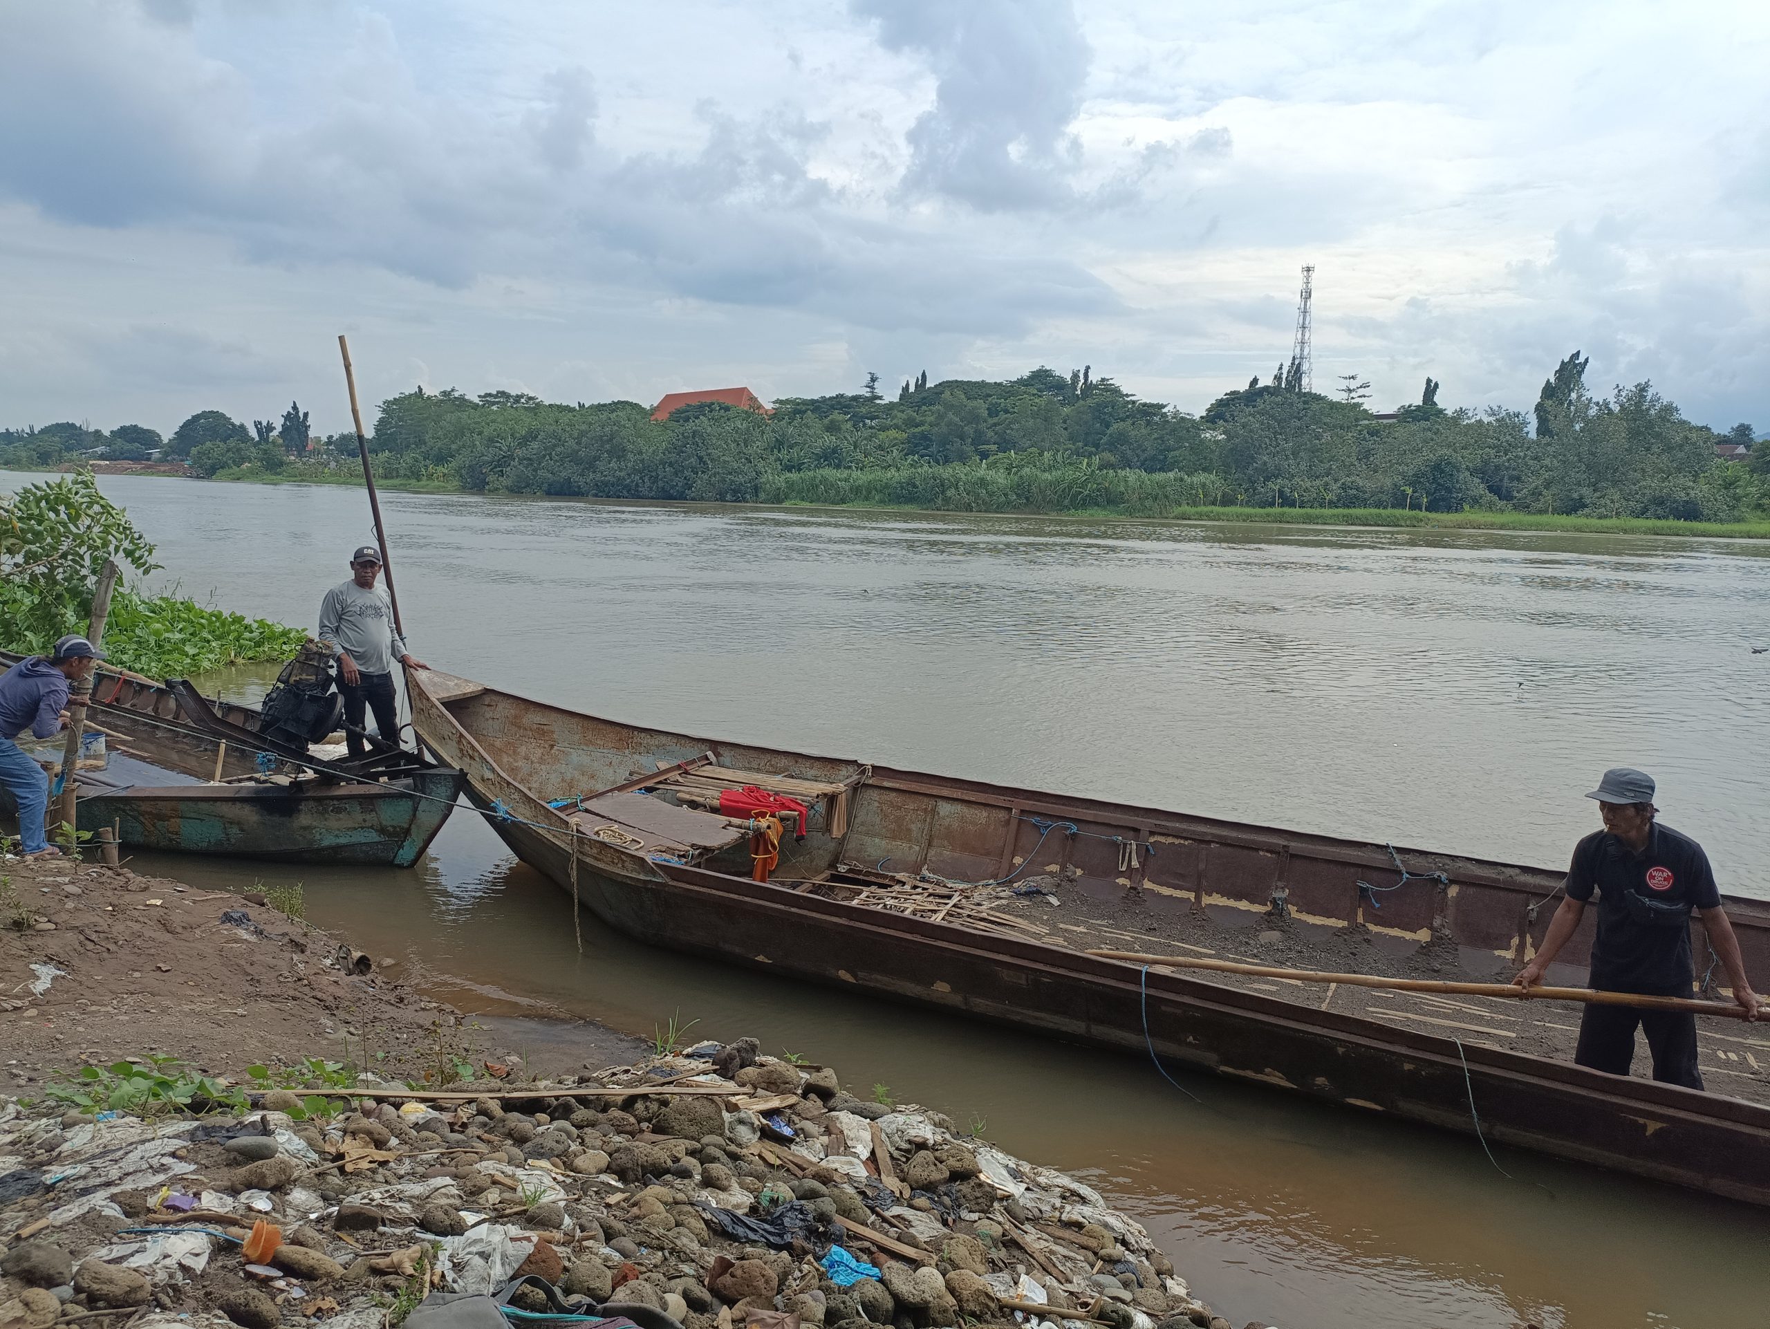
M 1745 977 L 1740 943 L 1720 908 L 1715 874 L 1703 846 L 1655 821 L 1653 780 L 1618 766 L 1588 798 L 1598 800 L 1604 830 L 1574 846 L 1566 872 L 1566 899 L 1549 920 L 1542 949 L 1513 979 L 1535 987 L 1549 961 L 1566 945 L 1598 892 L 1598 936 L 1591 943 L 1591 986 L 1611 993 L 1690 996 L 1690 910 L 1703 915 L 1708 945 L 1728 972 L 1733 1000 L 1759 1016 L 1758 995 Z M 1653 1078 L 1703 1088 L 1696 1062 L 1696 1016 L 1676 1010 L 1639 1010 L 1625 1005 L 1588 1005 L 1579 1023 L 1574 1060 L 1595 1071 L 1627 1076 L 1635 1055 L 1635 1026 L 1648 1035 Z

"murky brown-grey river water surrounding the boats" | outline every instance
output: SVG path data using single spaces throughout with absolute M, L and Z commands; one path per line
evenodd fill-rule
M 16 487 L 30 476 L 0 476 Z M 156 575 L 312 626 L 359 490 L 101 480 Z M 1770 897 L 1752 542 L 1175 526 L 384 495 L 421 658 L 623 720 L 1529 864 L 1660 780 L 1724 890 Z M 262 671 L 260 671 L 262 672 Z M 253 671 L 235 680 L 250 685 Z M 1763 1324 L 1758 1210 L 860 1002 L 563 927 L 469 814 L 411 872 L 303 880 L 308 915 L 536 1058 L 595 1018 L 758 1033 L 979 1122 L 1138 1212 L 1235 1324 Z M 531 1046 L 529 1046 L 531 1044 Z

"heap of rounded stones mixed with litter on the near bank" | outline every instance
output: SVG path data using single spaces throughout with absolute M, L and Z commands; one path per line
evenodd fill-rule
M 0 1329 L 382 1329 L 527 1274 L 683 1329 L 1228 1329 L 1092 1187 L 750 1039 L 520 1092 L 368 1083 L 312 1120 L 287 1092 L 0 1108 Z

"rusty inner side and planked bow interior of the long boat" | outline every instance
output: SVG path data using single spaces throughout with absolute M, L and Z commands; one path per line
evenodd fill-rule
M 421 678 L 515 786 L 581 835 L 747 878 L 749 823 L 722 816 L 719 795 L 759 787 L 807 809 L 802 826 L 789 818 L 775 885 L 984 931 L 1016 926 L 991 918 L 974 887 L 1044 881 L 1099 901 L 1135 892 L 1158 915 L 1197 911 L 1232 933 L 1281 917 L 1368 933 L 1391 954 L 1448 945 L 1466 972 L 1501 973 L 1542 940 L 1561 887 L 1549 869 L 710 741 Z M 1728 904 L 1747 966 L 1770 979 L 1770 908 Z M 1581 980 L 1584 945 L 1563 950 L 1556 980 Z

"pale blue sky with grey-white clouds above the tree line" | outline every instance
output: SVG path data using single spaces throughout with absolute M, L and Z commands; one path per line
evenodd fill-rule
M 0 425 L 1090 365 L 1770 434 L 1770 5 L 0 0 Z

